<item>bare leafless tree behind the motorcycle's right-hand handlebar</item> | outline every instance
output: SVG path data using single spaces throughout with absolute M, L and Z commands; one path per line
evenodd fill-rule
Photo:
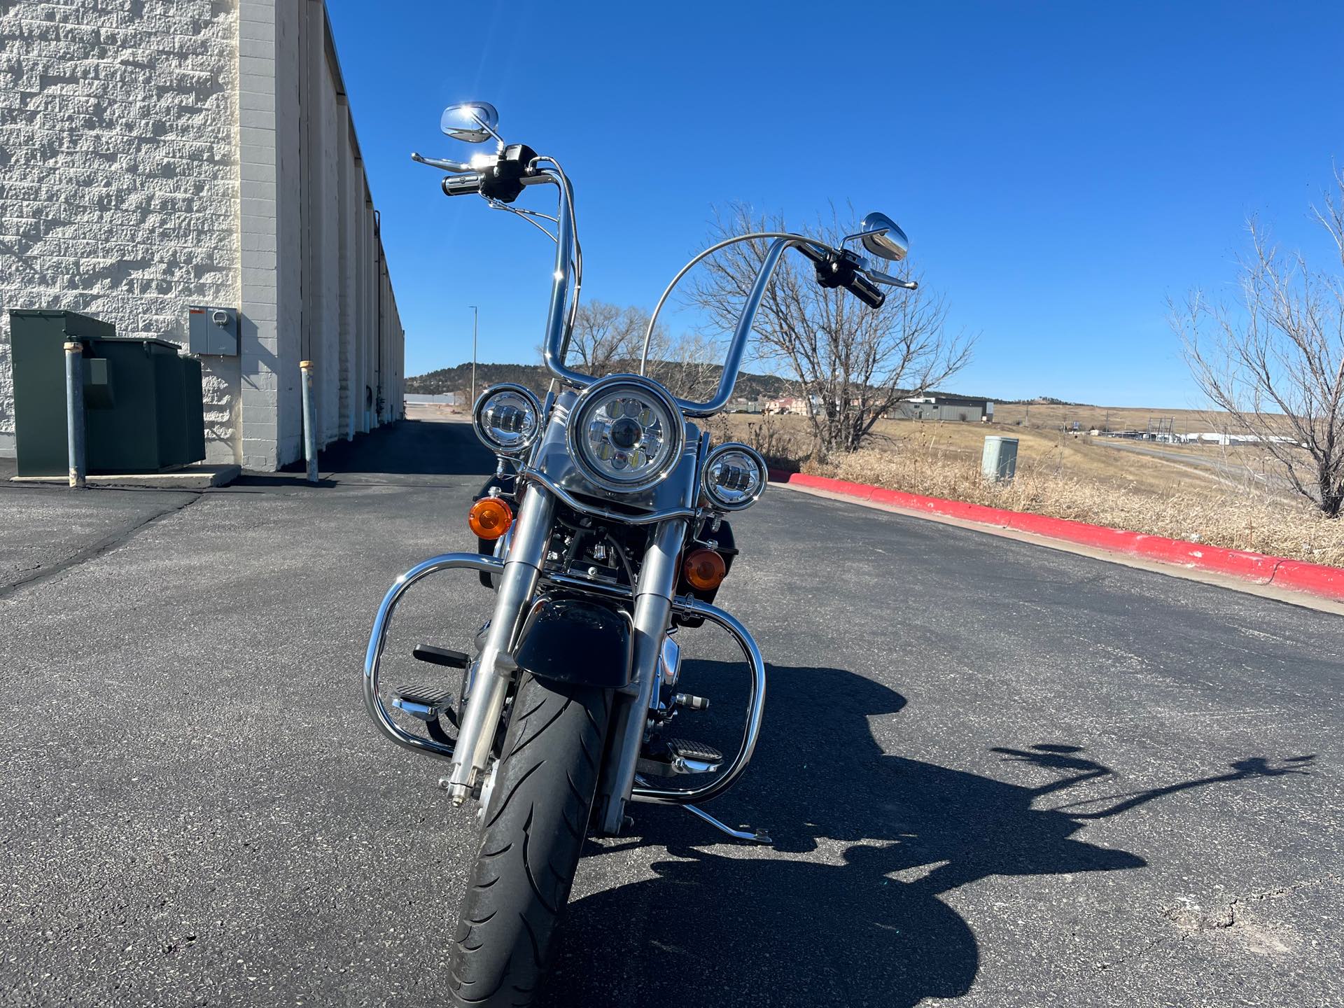
M 786 230 L 780 218 L 755 216 L 732 204 L 715 215 L 710 238 Z M 809 233 L 839 245 L 847 228 L 832 211 L 829 222 Z M 712 255 L 688 300 L 715 327 L 731 329 L 767 247 L 763 239 L 739 242 Z M 884 266 L 913 277 L 906 263 Z M 874 310 L 845 290 L 818 286 L 812 265 L 790 254 L 761 301 L 755 353 L 794 378 L 813 403 L 812 430 L 823 454 L 857 449 L 902 399 L 948 380 L 970 362 L 974 339 L 945 333 L 948 304 L 941 296 L 922 285 L 888 290 L 887 304 Z

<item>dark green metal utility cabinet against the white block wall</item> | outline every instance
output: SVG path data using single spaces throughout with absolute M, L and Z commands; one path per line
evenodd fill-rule
M 75 312 L 9 312 L 19 476 L 65 476 L 65 343 L 83 344 L 90 476 L 153 473 L 206 457 L 200 362 L 153 339 L 117 339 Z

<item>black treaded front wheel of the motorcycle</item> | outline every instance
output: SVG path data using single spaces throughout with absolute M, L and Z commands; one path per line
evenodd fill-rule
M 457 915 L 457 1005 L 532 1003 L 597 789 L 610 691 L 523 676 Z

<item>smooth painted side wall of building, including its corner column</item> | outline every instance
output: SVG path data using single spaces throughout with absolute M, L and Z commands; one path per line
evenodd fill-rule
M 302 450 L 298 362 L 319 444 L 352 438 L 401 415 L 405 333 L 325 7 L 239 3 L 242 460 L 271 469 Z

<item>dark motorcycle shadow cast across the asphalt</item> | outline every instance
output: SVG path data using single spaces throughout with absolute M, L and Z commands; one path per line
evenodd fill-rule
M 688 663 L 687 679 L 704 681 L 719 663 L 698 664 Z M 767 728 L 751 769 L 710 808 L 730 824 L 767 828 L 774 848 L 719 845 L 684 812 L 637 805 L 642 841 L 590 844 L 589 870 L 621 872 L 625 862 L 642 874 L 638 855 L 626 853 L 642 843 L 664 843 L 677 860 L 655 860 L 656 878 L 571 903 L 544 1003 L 899 1008 L 957 997 L 974 982 L 980 952 L 941 894 L 988 875 L 1142 868 L 1134 853 L 1074 835 L 1165 794 L 1305 773 L 1310 762 L 1251 758 L 1102 806 L 1060 808 L 1067 789 L 1113 771 L 1074 745 L 992 750 L 1058 774 L 1040 786 L 888 755 L 868 718 L 905 703 L 843 669 L 771 668 Z M 719 727 L 738 711 L 737 698 L 719 704 Z M 1056 808 L 1034 808 L 1046 796 L 1056 796 Z

